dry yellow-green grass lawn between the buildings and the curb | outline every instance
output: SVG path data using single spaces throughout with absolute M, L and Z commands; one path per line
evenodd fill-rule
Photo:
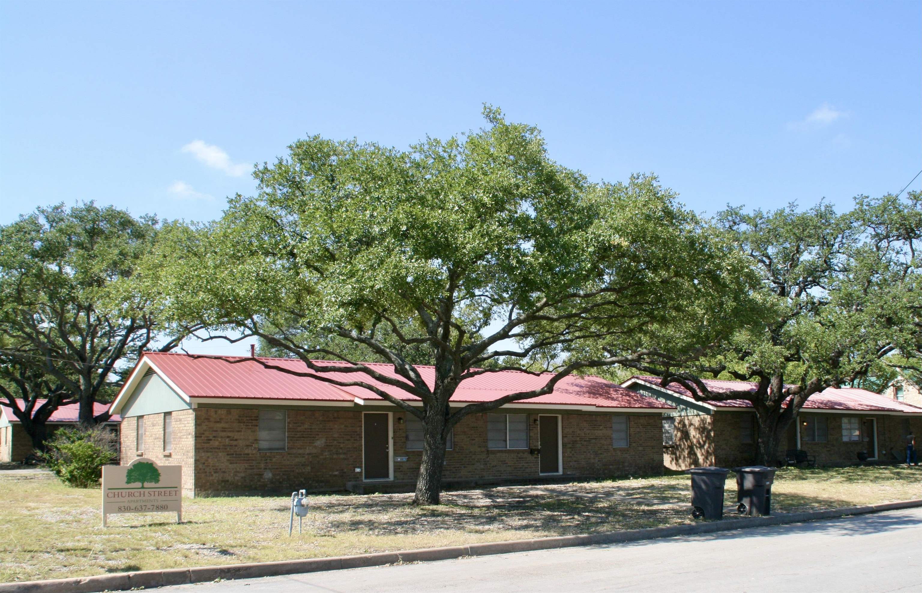
M 727 505 L 735 499 L 732 474 Z M 775 512 L 855 506 L 922 496 L 922 468 L 779 471 Z M 0 471 L 0 582 L 387 552 L 479 541 L 595 533 L 691 523 L 684 474 L 593 483 L 510 486 L 443 494 L 415 507 L 411 494 L 310 498 L 304 531 L 288 536 L 287 497 L 183 501 L 169 513 L 111 515 L 100 527 L 100 490 L 51 474 Z M 732 516 L 731 516 L 732 518 Z

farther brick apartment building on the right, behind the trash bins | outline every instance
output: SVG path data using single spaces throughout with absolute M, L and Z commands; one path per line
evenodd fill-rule
M 747 381 L 703 382 L 714 392 L 756 389 Z M 621 386 L 676 406 L 674 412 L 663 414 L 667 468 L 733 467 L 755 459 L 758 424 L 751 402 L 695 401 L 680 385 L 662 387 L 658 377 L 634 376 Z M 829 388 L 810 396 L 801 408 L 779 455 L 802 449 L 819 465 L 850 465 L 863 451 L 872 462 L 897 462 L 905 459 L 905 436 L 910 432 L 922 434 L 922 407 L 868 390 Z

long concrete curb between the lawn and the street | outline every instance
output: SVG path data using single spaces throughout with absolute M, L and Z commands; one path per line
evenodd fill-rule
M 869 506 L 846 506 L 826 511 L 807 513 L 786 513 L 770 517 L 750 517 L 728 519 L 691 525 L 674 525 L 651 529 L 626 529 L 608 533 L 588 535 L 565 535 L 557 538 L 540 538 L 537 540 L 493 541 L 472 543 L 466 546 L 448 548 L 429 548 L 425 550 L 408 550 L 403 552 L 381 552 L 361 554 L 358 556 L 338 556 L 334 558 L 312 558 L 309 560 L 286 560 L 254 564 L 224 564 L 220 566 L 199 566 L 195 568 L 172 568 L 168 570 L 144 570 L 134 573 L 115 575 L 81 576 L 77 578 L 59 578 L 47 581 L 26 581 L 22 583 L 0 583 L 0 593 L 96 593 L 98 591 L 125 591 L 132 588 L 155 588 L 168 585 L 185 585 L 203 583 L 215 579 L 256 578 L 262 576 L 297 575 L 326 570 L 343 570 L 347 568 L 364 568 L 384 564 L 401 564 L 410 562 L 431 562 L 434 560 L 452 560 L 462 556 L 487 556 L 510 552 L 531 552 L 588 546 L 625 541 L 656 540 L 679 535 L 697 535 L 735 529 L 767 527 L 785 523 L 801 523 L 852 515 L 867 515 L 881 511 L 922 506 L 922 499 L 904 500 L 898 503 L 884 503 Z

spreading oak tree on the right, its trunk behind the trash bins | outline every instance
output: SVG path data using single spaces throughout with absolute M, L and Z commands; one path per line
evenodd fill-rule
M 761 278 L 762 314 L 703 356 L 630 364 L 678 383 L 701 401 L 748 400 L 759 420 L 759 461 L 772 463 L 787 426 L 811 395 L 874 384 L 918 341 L 917 196 L 869 199 L 836 214 L 828 203 L 717 217 Z M 903 353 L 903 354 L 901 354 Z M 905 364 L 905 363 L 904 363 Z M 755 381 L 713 392 L 701 378 Z

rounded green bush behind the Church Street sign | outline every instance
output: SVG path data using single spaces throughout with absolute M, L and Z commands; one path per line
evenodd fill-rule
M 114 436 L 104 428 L 62 428 L 47 443 L 42 455 L 62 482 L 89 488 L 100 483 L 102 466 L 118 458 Z

